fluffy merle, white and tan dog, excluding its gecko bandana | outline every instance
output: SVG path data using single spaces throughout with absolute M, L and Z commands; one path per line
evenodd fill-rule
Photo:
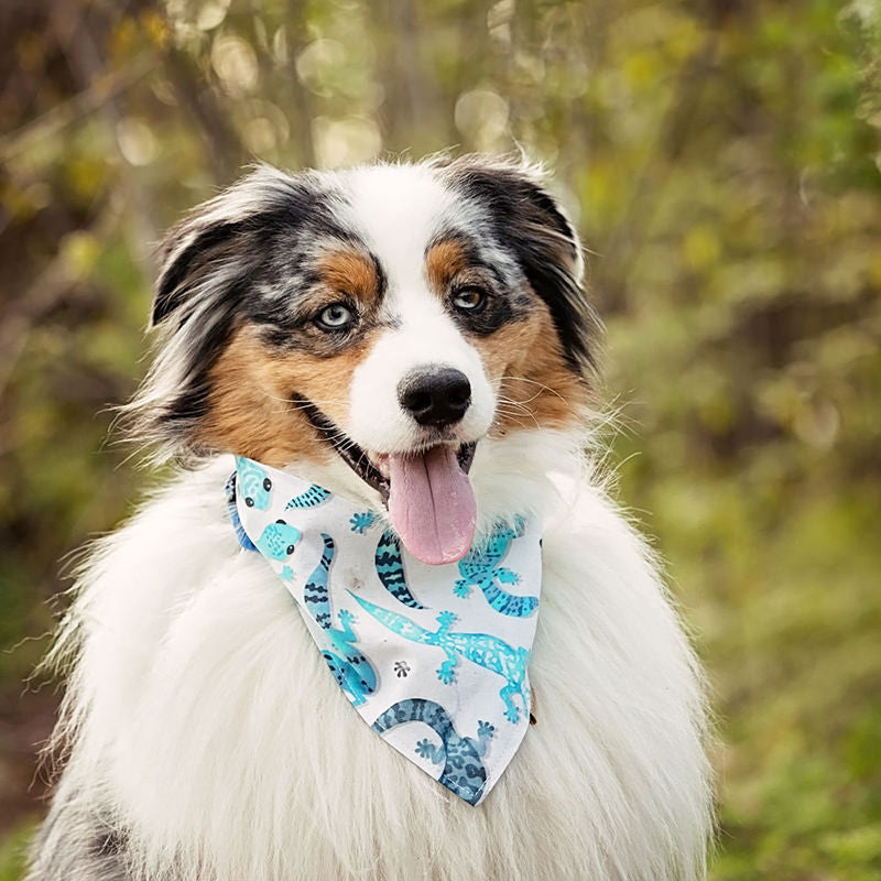
M 704 681 L 594 464 L 599 320 L 541 171 L 260 166 L 160 257 L 157 354 L 124 415 L 177 469 L 79 573 L 28 879 L 704 877 Z M 236 461 L 376 512 L 426 572 L 500 519 L 539 524 L 530 724 L 480 804 L 358 718 L 237 533 Z

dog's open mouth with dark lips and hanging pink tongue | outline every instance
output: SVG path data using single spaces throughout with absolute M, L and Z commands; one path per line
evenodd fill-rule
M 455 563 L 470 550 L 477 505 L 468 472 L 477 443 L 457 449 L 438 444 L 371 458 L 318 410 L 296 396 L 296 406 L 349 468 L 379 492 L 392 524 L 413 556 L 429 565 Z

